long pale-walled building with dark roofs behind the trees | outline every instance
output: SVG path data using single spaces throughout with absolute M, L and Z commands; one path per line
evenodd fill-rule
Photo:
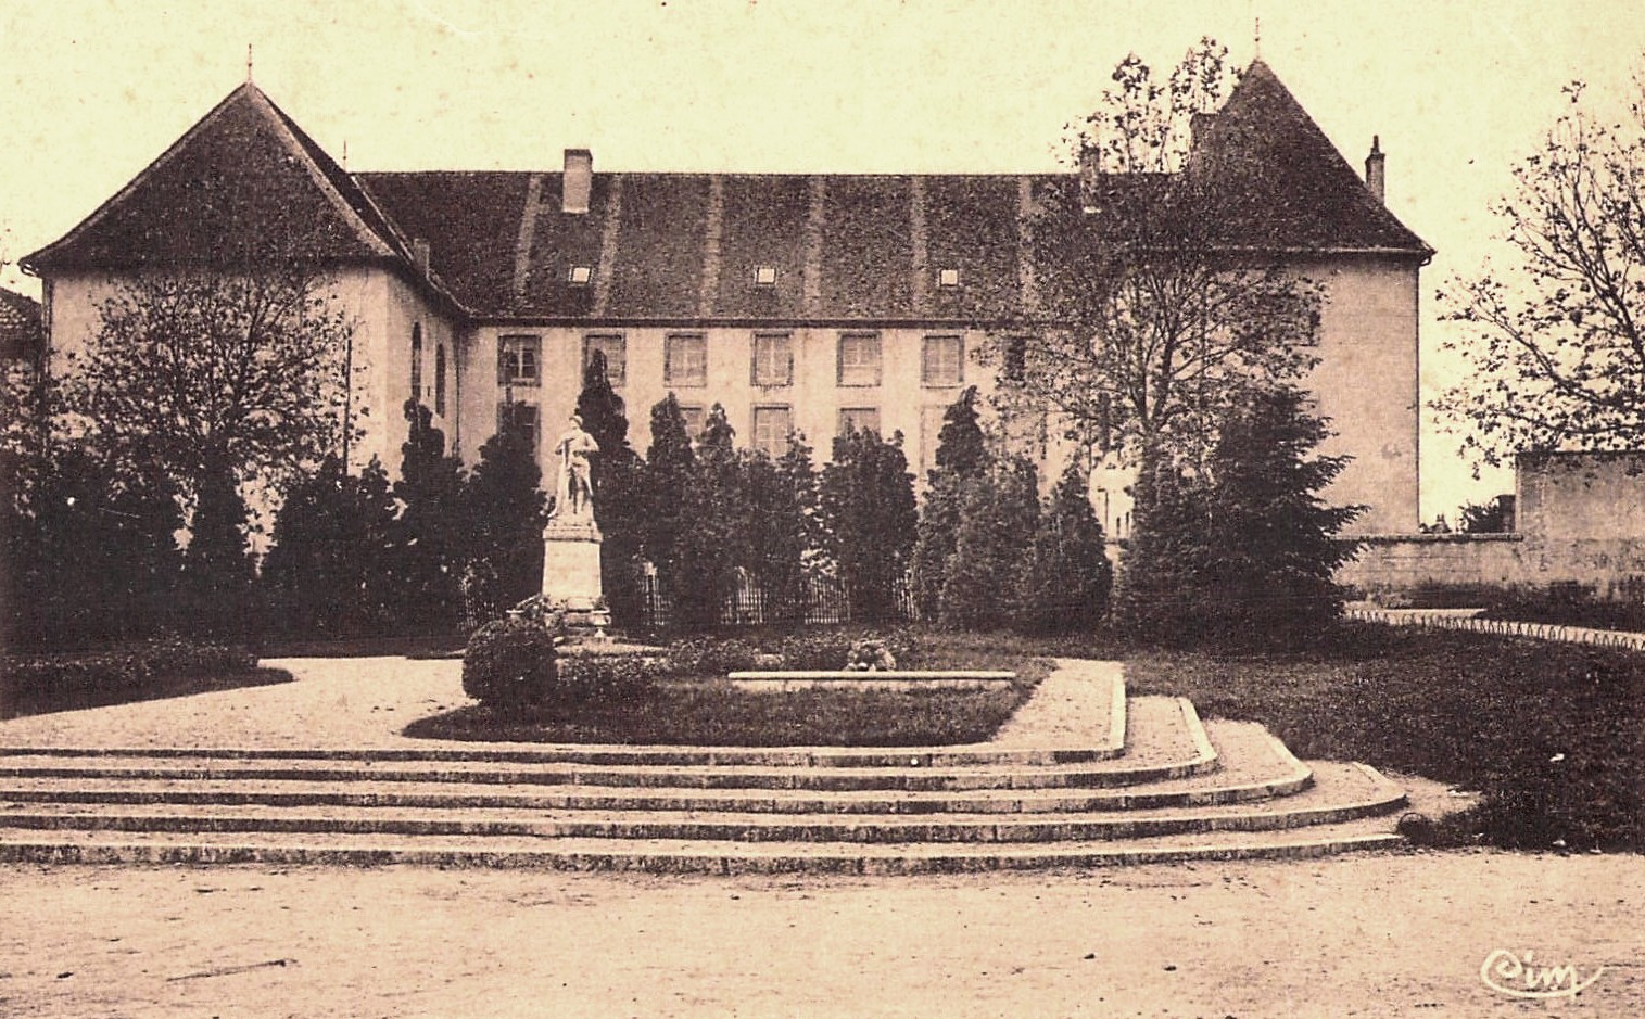
M 1206 122 L 1252 178 L 1235 233 L 1316 279 L 1326 304 L 1311 388 L 1354 457 L 1329 496 L 1357 528 L 1418 523 L 1418 271 L 1431 250 L 1382 204 L 1273 71 L 1255 62 Z M 931 463 L 943 409 L 990 388 L 984 329 L 1030 297 L 1020 219 L 1077 174 L 595 173 L 587 150 L 521 173 L 347 173 L 257 85 L 225 97 L 56 243 L 23 260 L 44 284 L 53 350 L 84 344 L 132 273 L 211 261 L 222 240 L 301 222 L 354 314 L 350 460 L 393 470 L 421 399 L 466 462 L 503 417 L 543 444 L 592 350 L 645 449 L 646 408 L 689 422 L 724 404 L 742 442 L 791 431 L 826 455 L 847 426 L 900 431 Z M 1054 455 L 1054 450 L 1053 450 Z M 1128 500 L 1102 493 L 1110 529 Z

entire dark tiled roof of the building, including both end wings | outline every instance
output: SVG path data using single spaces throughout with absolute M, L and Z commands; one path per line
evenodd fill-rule
M 1262 61 L 1207 122 L 1193 164 L 1230 184 L 1227 247 L 1431 253 Z M 245 84 L 25 265 L 224 263 L 290 232 L 324 258 L 410 268 L 423 238 L 434 288 L 482 319 L 997 320 L 1023 309 L 1033 279 L 1026 204 L 1077 181 L 600 173 L 587 212 L 564 212 L 558 171 L 350 176 Z M 1087 201 L 1124 219 L 1163 181 L 1102 178 Z M 1091 225 L 1101 238 L 1101 217 Z M 755 281 L 762 266 L 775 283 Z M 943 270 L 959 284 L 939 286 Z

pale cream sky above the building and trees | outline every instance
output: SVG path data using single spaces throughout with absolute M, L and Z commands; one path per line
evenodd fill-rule
M 5 0 L 0 260 L 56 240 L 247 74 L 339 161 L 375 169 L 1030 173 L 1128 53 L 1201 36 L 1260 56 L 1438 248 L 1421 283 L 1425 396 L 1459 371 L 1434 293 L 1479 271 L 1512 187 L 1566 105 L 1622 95 L 1637 0 Z M 38 294 L 38 281 L 0 271 Z M 1423 514 L 1479 482 L 1425 419 Z

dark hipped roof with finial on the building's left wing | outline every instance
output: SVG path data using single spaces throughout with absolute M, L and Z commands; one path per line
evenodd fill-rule
M 408 258 L 393 225 L 352 178 L 247 82 L 23 265 L 35 271 L 234 265 L 271 253 Z

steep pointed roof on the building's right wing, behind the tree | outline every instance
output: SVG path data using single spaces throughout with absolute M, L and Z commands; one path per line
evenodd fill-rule
M 1250 64 L 1209 118 L 1194 159 L 1226 181 L 1232 247 L 1433 253 L 1370 192 L 1263 61 Z

